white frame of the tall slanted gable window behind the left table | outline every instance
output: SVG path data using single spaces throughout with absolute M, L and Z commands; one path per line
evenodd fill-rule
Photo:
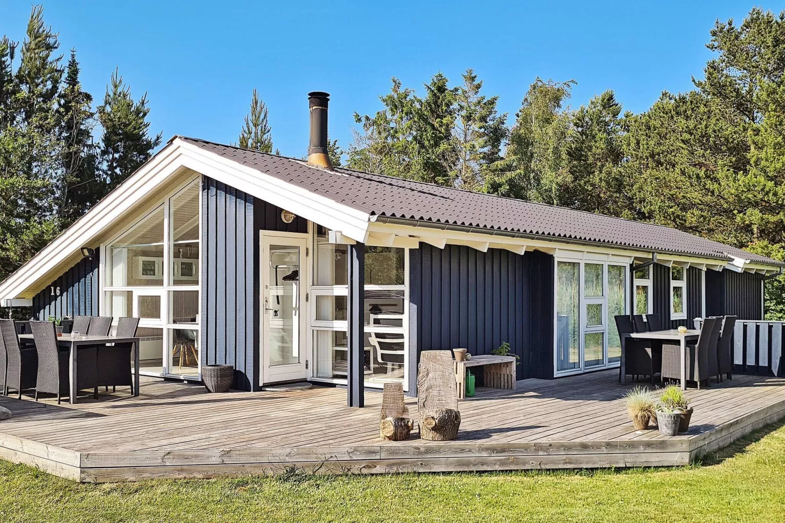
M 195 183 L 196 182 L 196 183 Z M 170 252 L 170 243 L 172 243 L 173 231 L 172 231 L 172 221 L 171 221 L 171 200 L 183 192 L 186 188 L 190 187 L 194 184 L 199 188 L 199 258 L 194 258 L 196 262 L 196 269 L 198 270 L 199 274 L 198 277 L 195 278 L 194 284 L 192 285 L 173 285 L 171 282 L 171 278 L 173 275 L 173 266 L 171 262 L 171 252 Z M 100 262 L 99 262 L 99 307 L 101 311 L 107 316 L 111 315 L 111 303 L 106 302 L 106 293 L 110 291 L 131 291 L 133 292 L 133 303 L 132 303 L 132 311 L 133 315 L 137 316 L 138 311 L 138 297 L 139 296 L 148 296 L 148 295 L 160 295 L 161 296 L 161 317 L 158 320 L 154 320 L 152 318 L 144 318 L 139 321 L 139 327 L 149 327 L 155 329 L 161 329 L 162 331 L 162 372 L 152 372 L 152 371 L 144 371 L 141 370 L 139 372 L 140 375 L 148 375 L 148 376 L 156 376 L 156 377 L 167 377 L 167 378 L 175 378 L 175 379 L 184 379 L 184 380 L 195 380 L 200 381 L 202 379 L 202 343 L 203 340 L 201 339 L 201 324 L 202 324 L 202 273 L 199 268 L 202 266 L 202 256 L 203 256 L 203 230 L 202 230 L 202 217 L 203 217 L 203 205 L 202 205 L 202 181 L 201 175 L 196 175 L 192 177 L 188 177 L 187 180 L 183 181 L 180 185 L 177 185 L 172 191 L 167 192 L 166 196 L 162 197 L 155 202 L 155 205 L 150 207 L 147 212 L 144 213 L 140 218 L 133 221 L 131 225 L 128 227 L 120 230 L 115 235 L 111 236 L 107 241 L 100 244 Z M 163 208 L 163 263 L 162 263 L 162 285 L 149 285 L 149 286 L 109 286 L 106 285 L 106 278 L 108 276 L 108 270 L 111 270 L 111 264 L 107 263 L 107 252 L 108 247 L 111 246 L 115 240 L 118 240 L 120 236 L 124 235 L 126 232 L 130 231 L 134 227 L 136 227 L 141 221 L 149 218 L 152 214 L 159 212 L 159 210 Z M 171 303 L 170 303 L 170 291 L 197 291 L 199 292 L 197 300 L 198 300 L 198 309 L 196 314 L 196 323 L 195 324 L 175 324 L 173 321 L 170 321 L 170 312 L 171 312 Z M 117 319 L 112 322 L 113 327 L 117 324 Z M 173 331 L 174 330 L 188 330 L 188 331 L 196 331 L 196 340 L 197 340 L 197 351 L 199 354 L 198 361 L 197 361 L 197 368 L 196 368 L 196 375 L 183 375 L 178 374 L 174 371 L 173 365 L 173 357 L 171 346 L 173 344 Z

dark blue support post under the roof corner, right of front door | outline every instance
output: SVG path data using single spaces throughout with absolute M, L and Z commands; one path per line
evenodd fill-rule
M 365 244 L 349 245 L 349 323 L 347 329 L 347 404 L 365 406 Z

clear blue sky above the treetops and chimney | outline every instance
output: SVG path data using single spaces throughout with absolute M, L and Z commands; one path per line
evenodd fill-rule
M 24 37 L 30 3 L 0 2 L 0 32 Z M 644 5 L 646 4 L 646 5 Z M 571 104 L 612 88 L 641 112 L 662 90 L 691 88 L 710 57 L 717 18 L 739 22 L 745 2 L 46 2 L 61 50 L 75 47 L 82 83 L 102 98 L 119 67 L 147 91 L 152 130 L 237 140 L 256 87 L 285 155 L 308 144 L 306 93 L 331 94 L 330 137 L 344 148 L 352 114 L 381 108 L 390 78 L 419 88 L 466 68 L 510 115 L 538 75 L 575 79 Z M 779 11 L 780 5 L 762 5 Z

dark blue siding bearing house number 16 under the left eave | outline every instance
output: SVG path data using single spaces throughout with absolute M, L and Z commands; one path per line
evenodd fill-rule
M 82 259 L 33 297 L 33 316 L 93 316 L 98 314 L 98 249 L 92 260 Z M 60 294 L 57 294 L 57 291 Z

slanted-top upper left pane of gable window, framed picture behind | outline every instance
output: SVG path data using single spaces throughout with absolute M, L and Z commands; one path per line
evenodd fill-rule
M 107 285 L 163 285 L 163 207 L 107 247 Z

